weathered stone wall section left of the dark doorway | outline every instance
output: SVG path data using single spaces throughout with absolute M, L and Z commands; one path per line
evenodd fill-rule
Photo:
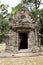
M 16 32 L 10 30 L 8 35 L 8 41 L 6 43 L 6 51 L 15 52 L 17 48 Z

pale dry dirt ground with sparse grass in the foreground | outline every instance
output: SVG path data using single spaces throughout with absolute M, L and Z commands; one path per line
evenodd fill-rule
M 0 58 L 0 65 L 43 65 L 43 56 Z

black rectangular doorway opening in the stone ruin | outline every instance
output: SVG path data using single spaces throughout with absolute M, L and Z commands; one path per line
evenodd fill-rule
M 19 49 L 27 49 L 28 48 L 27 33 L 19 33 L 19 36 L 20 36 Z

